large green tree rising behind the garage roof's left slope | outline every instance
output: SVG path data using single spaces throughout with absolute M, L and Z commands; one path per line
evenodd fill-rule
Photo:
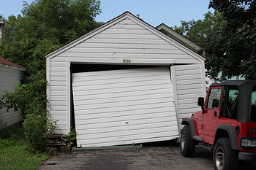
M 102 23 L 98 0 L 24 2 L 23 16 L 10 16 L 1 39 L 0 56 L 27 69 L 27 82 L 45 78 L 45 55 Z

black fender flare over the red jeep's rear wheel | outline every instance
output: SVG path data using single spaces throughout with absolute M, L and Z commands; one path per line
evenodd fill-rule
M 216 133 L 215 133 L 215 137 L 214 137 L 214 144 L 217 142 L 217 140 L 219 139 L 217 135 L 217 131 L 218 130 L 225 130 L 227 131 L 227 134 L 230 138 L 230 144 L 231 144 L 231 148 L 233 150 L 239 150 L 239 146 L 238 146 L 238 141 L 236 138 L 236 130 L 232 125 L 219 125 L 217 127 Z

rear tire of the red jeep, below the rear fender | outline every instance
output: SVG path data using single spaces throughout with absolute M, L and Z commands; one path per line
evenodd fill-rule
M 214 169 L 236 170 L 238 169 L 238 151 L 233 150 L 230 139 L 220 138 L 214 147 Z

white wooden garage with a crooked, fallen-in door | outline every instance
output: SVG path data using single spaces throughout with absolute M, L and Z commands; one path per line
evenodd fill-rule
M 206 95 L 205 58 L 129 12 L 46 60 L 48 117 L 82 147 L 176 139 Z

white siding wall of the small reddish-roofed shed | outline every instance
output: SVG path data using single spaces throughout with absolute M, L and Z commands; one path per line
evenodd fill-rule
M 14 92 L 14 84 L 23 80 L 25 74 L 26 72 L 19 69 L 10 69 L 0 66 L 0 96 L 4 95 L 5 90 Z M 13 125 L 22 120 L 22 112 L 20 109 L 18 112 L 14 112 L 13 109 L 10 109 L 9 112 L 7 112 L 6 108 L 0 109 L 0 120 L 2 120 L 3 124 L 7 122 L 7 126 Z M 0 128 L 4 127 L 0 126 Z

